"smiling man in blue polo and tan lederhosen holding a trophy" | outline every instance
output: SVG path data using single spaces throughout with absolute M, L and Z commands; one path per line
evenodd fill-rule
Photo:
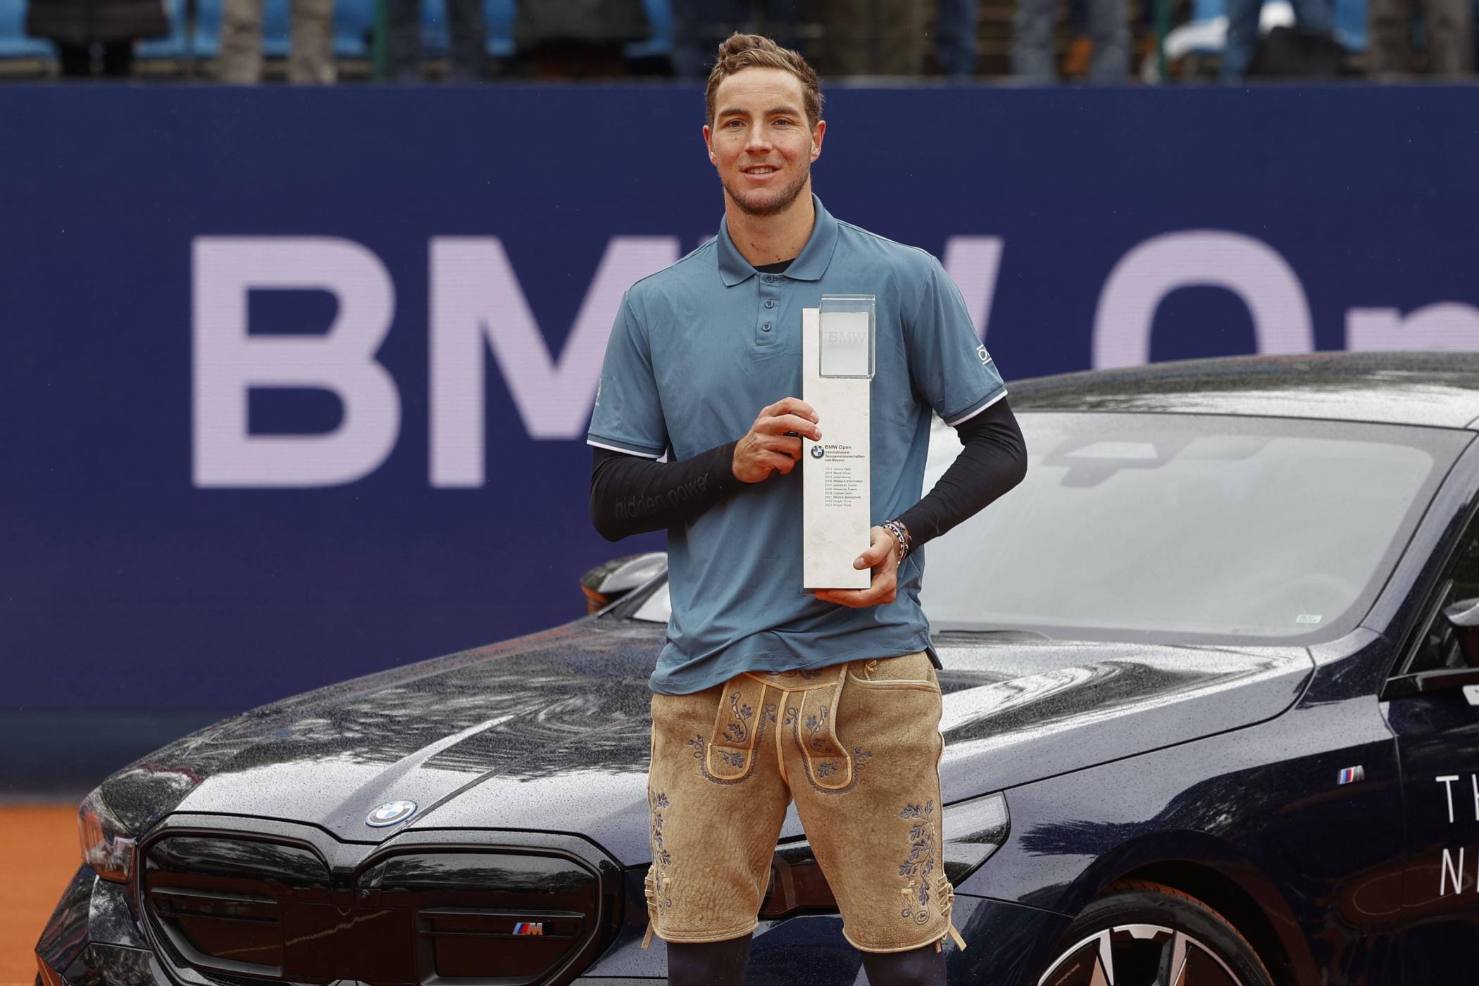
M 944 983 L 954 933 L 918 545 L 1022 479 L 1022 438 L 939 263 L 812 195 L 825 129 L 800 55 L 748 34 L 719 47 L 704 142 L 725 219 L 626 293 L 592 415 L 596 528 L 669 531 L 648 914 L 679 985 L 742 979 L 793 798 L 873 983 Z M 853 563 L 873 571 L 868 588 L 808 596 L 797 436 L 827 421 L 796 395 L 802 307 L 824 293 L 877 297 L 871 506 L 884 522 Z M 918 500 L 932 408 L 964 448 Z

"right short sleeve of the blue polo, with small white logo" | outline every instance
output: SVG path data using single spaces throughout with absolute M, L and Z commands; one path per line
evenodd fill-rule
M 1001 374 L 970 324 L 960 290 L 935 257 L 929 259 L 904 337 L 914 386 L 947 424 L 960 424 L 1006 396 Z

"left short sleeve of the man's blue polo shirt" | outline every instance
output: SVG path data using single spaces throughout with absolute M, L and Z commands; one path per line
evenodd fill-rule
M 667 451 L 667 423 L 652 374 L 652 350 L 632 312 L 630 291 L 621 296 L 606 340 L 586 443 L 645 458 L 661 458 Z

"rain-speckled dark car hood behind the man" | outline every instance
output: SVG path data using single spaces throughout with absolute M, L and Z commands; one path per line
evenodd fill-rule
M 586 835 L 648 856 L 648 676 L 663 627 L 606 618 L 383 671 L 223 720 L 111 776 L 133 832 L 250 815 L 377 843 L 407 828 Z M 945 801 L 1247 726 L 1288 708 L 1302 647 L 944 636 Z M 414 801 L 408 822 L 367 813 Z M 799 832 L 793 813 L 787 829 Z

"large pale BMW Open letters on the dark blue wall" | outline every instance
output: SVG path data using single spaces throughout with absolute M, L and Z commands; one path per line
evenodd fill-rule
M 614 237 L 559 356 L 519 287 L 497 237 L 436 237 L 429 245 L 430 463 L 433 486 L 485 482 L 484 347 L 491 350 L 532 439 L 578 439 L 600 380 L 621 293 L 677 259 L 674 237 Z M 985 339 L 1004 250 L 1000 237 L 951 237 L 944 266 Z M 330 237 L 198 237 L 194 278 L 194 477 L 197 486 L 302 488 L 353 482 L 379 469 L 401 430 L 395 381 L 374 353 L 395 315 L 380 259 Z M 1268 244 L 1201 229 L 1152 237 L 1109 272 L 1094 315 L 1094 368 L 1149 361 L 1161 302 L 1183 287 L 1235 293 L 1253 316 L 1260 353 L 1313 349 L 1299 276 Z M 251 334 L 248 291 L 334 294 L 339 315 L 321 336 Z M 1350 309 L 1350 349 L 1479 349 L 1479 307 L 1429 305 Z M 322 435 L 251 435 L 253 387 L 317 387 L 345 408 Z

